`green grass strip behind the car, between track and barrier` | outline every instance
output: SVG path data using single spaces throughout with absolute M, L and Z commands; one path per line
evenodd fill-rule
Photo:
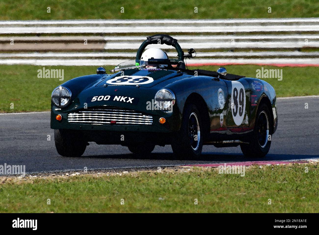
M 319 79 L 317 67 L 270 67 L 264 69 L 283 69 L 283 80 L 264 79 L 276 90 L 278 97 L 319 95 Z M 14 68 L 14 69 L 13 69 Z M 32 65 L 0 65 L 0 113 L 32 112 L 50 110 L 52 90 L 67 80 L 94 74 L 96 66 L 49 66 L 46 69 L 64 69 L 64 80 L 58 78 L 38 78 L 40 66 Z M 106 69 L 114 68 L 112 66 Z M 195 67 L 189 67 L 194 69 Z M 203 69 L 215 70 L 218 67 L 205 66 Z M 236 65 L 226 66 L 228 73 L 256 77 L 256 69 L 260 66 Z M 13 109 L 11 109 L 13 103 Z

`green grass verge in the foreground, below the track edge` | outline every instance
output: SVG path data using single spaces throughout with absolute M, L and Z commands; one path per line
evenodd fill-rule
M 254 166 L 244 177 L 194 168 L 2 184 L 0 212 L 318 213 L 318 169 L 307 166 L 308 173 L 304 164 Z

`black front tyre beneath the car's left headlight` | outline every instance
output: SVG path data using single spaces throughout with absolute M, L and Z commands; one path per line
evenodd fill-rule
M 56 151 L 64 157 L 80 157 L 88 145 L 81 136 L 69 130 L 54 130 L 54 143 Z

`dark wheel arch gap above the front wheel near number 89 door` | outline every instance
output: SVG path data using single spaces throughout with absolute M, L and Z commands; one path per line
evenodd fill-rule
M 197 106 L 198 111 L 200 112 L 200 116 L 202 118 L 202 130 L 203 130 L 203 137 L 205 138 L 210 132 L 210 119 L 209 119 L 209 112 L 207 108 L 207 104 L 204 98 L 199 95 L 198 93 L 191 93 L 184 104 L 184 108 L 187 104 L 193 103 Z M 184 113 L 184 110 L 183 110 Z

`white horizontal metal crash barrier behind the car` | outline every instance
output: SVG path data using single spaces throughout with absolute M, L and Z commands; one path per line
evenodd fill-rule
M 117 65 L 161 33 L 196 50 L 188 65 L 318 66 L 318 32 L 319 18 L 0 21 L 0 64 Z

